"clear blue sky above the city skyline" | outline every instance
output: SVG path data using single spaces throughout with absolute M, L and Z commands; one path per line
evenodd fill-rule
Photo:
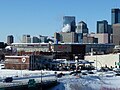
M 96 22 L 111 23 L 111 9 L 120 8 L 120 0 L 0 0 L 0 42 L 12 34 L 15 41 L 23 34 L 31 36 L 60 32 L 62 17 L 75 16 L 83 20 L 89 31 L 96 31 Z

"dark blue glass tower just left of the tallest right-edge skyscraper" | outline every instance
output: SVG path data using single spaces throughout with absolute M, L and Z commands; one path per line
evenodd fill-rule
M 108 22 L 106 20 L 97 21 L 97 33 L 108 33 Z

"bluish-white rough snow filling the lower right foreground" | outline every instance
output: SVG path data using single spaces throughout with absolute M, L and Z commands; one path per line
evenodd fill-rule
M 53 90 L 120 90 L 120 77 L 82 76 L 60 80 Z M 62 88 L 62 89 L 61 89 Z

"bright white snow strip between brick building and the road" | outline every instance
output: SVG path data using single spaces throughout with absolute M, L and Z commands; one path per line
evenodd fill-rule
M 66 71 L 57 71 L 57 73 L 69 73 Z M 5 77 L 27 77 L 27 76 L 40 76 L 42 75 L 50 75 L 50 74 L 55 74 L 55 71 L 46 71 L 46 70 L 35 70 L 35 71 L 30 71 L 30 70 L 10 70 L 10 69 L 0 69 L 0 78 L 5 78 Z

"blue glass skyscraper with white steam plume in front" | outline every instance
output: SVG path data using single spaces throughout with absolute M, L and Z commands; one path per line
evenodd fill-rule
M 70 31 L 69 32 L 75 32 L 76 22 L 75 22 L 75 17 L 74 16 L 64 16 L 63 17 L 63 28 L 66 27 L 66 26 L 68 26 L 68 27 L 70 26 Z

